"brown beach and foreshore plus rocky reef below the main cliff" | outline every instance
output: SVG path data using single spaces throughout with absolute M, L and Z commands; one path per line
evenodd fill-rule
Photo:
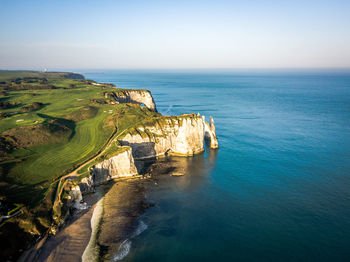
M 149 167 L 152 176 L 123 177 L 96 186 L 95 192 L 83 197 L 86 210 L 73 213 L 41 248 L 32 247 L 35 254 L 31 259 L 20 261 L 123 259 L 132 247 L 133 238 L 148 227 L 140 220 L 140 215 L 153 206 L 146 198 L 148 190 L 154 185 L 158 187 L 159 179 L 178 181 L 174 172 L 186 176 L 187 161 L 182 157 L 159 158 Z

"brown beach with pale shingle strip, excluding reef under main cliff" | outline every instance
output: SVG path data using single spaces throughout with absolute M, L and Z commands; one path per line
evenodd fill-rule
M 75 210 L 56 235 L 41 239 L 18 261 L 93 262 L 101 255 L 109 259 L 117 256 L 121 245 L 133 235 L 135 221 L 148 207 L 143 181 L 150 182 L 137 176 L 97 186 L 96 192 L 84 195 L 86 210 Z M 118 226 L 110 230 L 114 223 Z

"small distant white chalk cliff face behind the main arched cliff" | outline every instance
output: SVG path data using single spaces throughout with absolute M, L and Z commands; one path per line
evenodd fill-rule
M 124 89 L 113 92 L 113 97 L 118 103 L 144 104 L 148 109 L 157 112 L 152 94 L 148 90 Z

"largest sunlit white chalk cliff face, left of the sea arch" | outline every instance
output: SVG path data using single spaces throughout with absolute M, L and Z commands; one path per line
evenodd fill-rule
M 135 159 L 161 155 L 189 156 L 202 152 L 204 121 L 195 114 L 162 117 L 126 132 L 119 138 L 132 148 Z

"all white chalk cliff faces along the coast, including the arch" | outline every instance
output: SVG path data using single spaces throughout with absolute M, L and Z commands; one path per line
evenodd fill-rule
M 156 111 L 153 97 L 149 91 L 123 90 L 116 94 L 119 101 L 133 100 L 145 104 Z M 83 178 L 79 187 L 82 193 L 94 191 L 94 186 L 105 181 L 137 175 L 135 160 L 164 155 L 192 156 L 204 151 L 204 139 L 210 148 L 218 148 L 214 120 L 210 124 L 199 114 L 180 116 L 159 116 L 147 119 L 125 130 L 118 142 L 120 151 L 102 160 L 91 168 L 91 175 Z

